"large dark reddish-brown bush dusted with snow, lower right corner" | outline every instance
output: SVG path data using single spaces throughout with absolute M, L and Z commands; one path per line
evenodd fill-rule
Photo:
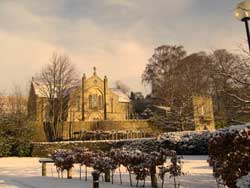
M 209 140 L 209 165 L 214 177 L 229 188 L 250 172 L 250 126 L 221 129 Z

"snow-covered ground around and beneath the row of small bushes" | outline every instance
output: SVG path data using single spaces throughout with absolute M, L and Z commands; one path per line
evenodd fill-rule
M 41 176 L 39 158 L 1 158 L 0 159 L 0 188 L 92 188 L 91 169 L 88 181 L 79 180 L 79 166 L 73 169 L 73 179 L 58 179 L 53 164 L 47 165 L 47 177 Z M 184 156 L 183 170 L 185 176 L 178 179 L 181 187 L 185 188 L 217 188 L 212 170 L 208 166 L 207 156 Z M 84 167 L 82 168 L 84 176 Z M 122 169 L 123 185 L 119 184 L 118 173 L 114 176 L 114 184 L 102 182 L 100 188 L 126 188 L 129 186 L 128 173 Z M 66 177 L 66 173 L 64 175 Z M 173 180 L 166 178 L 166 187 L 173 187 Z M 133 180 L 133 184 L 136 181 Z M 142 182 L 141 182 L 142 185 Z M 160 185 L 160 180 L 159 180 Z M 146 180 L 146 187 L 150 187 L 150 179 Z

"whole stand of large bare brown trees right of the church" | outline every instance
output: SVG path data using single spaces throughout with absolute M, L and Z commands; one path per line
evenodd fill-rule
M 186 121 L 192 116 L 192 96 L 210 95 L 218 126 L 248 122 L 250 54 L 244 53 L 220 49 L 209 55 L 186 55 L 182 46 L 160 46 L 146 65 L 142 81 L 151 85 L 156 104 L 171 108 L 171 118 Z

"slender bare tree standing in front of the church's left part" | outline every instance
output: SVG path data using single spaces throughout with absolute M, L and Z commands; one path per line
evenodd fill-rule
M 62 137 L 63 124 L 69 108 L 69 91 L 78 83 L 77 74 L 69 57 L 53 54 L 48 64 L 37 78 L 41 83 L 41 93 L 46 98 L 46 117 L 52 130 L 52 139 Z

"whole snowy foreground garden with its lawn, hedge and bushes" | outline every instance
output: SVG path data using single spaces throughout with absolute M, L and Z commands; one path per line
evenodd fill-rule
M 16 142 L 0 159 L 1 179 L 11 185 L 15 179 L 14 184 L 18 187 L 22 187 L 20 182 L 39 187 L 36 186 L 38 182 L 44 184 L 48 179 L 55 184 L 60 181 L 70 186 L 88 184 L 87 187 L 92 187 L 92 174 L 95 173 L 100 187 L 247 188 L 250 185 L 249 125 L 214 132 L 164 133 L 157 139 L 98 142 L 88 143 L 90 145 L 82 142 L 40 143 L 39 147 L 30 143 L 27 152 L 15 153 L 14 148 L 22 148 L 23 143 Z M 30 157 L 35 147 L 41 153 L 47 148 L 49 155 L 46 155 L 54 162 L 47 166 L 50 167 L 47 177 L 41 176 L 39 158 Z M 4 157 L 18 155 L 22 158 Z M 14 170 L 19 165 L 23 165 L 22 168 Z

